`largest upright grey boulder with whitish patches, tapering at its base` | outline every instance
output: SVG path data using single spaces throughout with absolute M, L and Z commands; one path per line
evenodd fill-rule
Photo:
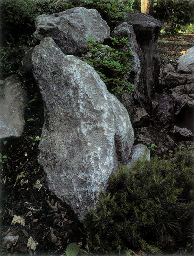
M 129 161 L 129 115 L 94 69 L 63 54 L 52 38 L 35 47 L 32 64 L 45 108 L 38 161 L 50 189 L 81 219 L 118 161 Z

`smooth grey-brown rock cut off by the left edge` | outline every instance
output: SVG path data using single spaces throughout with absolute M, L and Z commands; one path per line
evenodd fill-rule
M 0 95 L 0 138 L 20 137 L 25 124 L 27 92 L 17 75 L 5 79 L 3 92 Z

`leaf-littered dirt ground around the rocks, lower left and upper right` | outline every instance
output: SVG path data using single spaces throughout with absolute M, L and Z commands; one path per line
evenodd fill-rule
M 176 67 L 177 60 L 193 45 L 194 34 L 161 34 L 161 67 L 168 63 Z M 39 141 L 35 138 L 41 135 L 43 108 L 33 81 L 28 81 L 27 87 L 29 101 L 33 101 L 27 106 L 23 136 L 1 145 L 7 156 L 1 168 L 1 255 L 63 255 L 71 242 L 84 247 L 86 234 L 74 213 L 48 190 L 46 174 L 37 163 Z M 34 121 L 27 121 L 30 118 Z M 35 251 L 29 245 L 30 237 Z

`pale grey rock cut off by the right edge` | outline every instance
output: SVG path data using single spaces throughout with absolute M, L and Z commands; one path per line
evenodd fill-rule
M 177 72 L 182 74 L 194 74 L 194 46 L 181 56 L 177 61 Z

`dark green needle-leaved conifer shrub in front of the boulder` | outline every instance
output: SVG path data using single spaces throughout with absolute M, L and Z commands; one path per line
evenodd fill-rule
M 190 252 L 194 225 L 194 159 L 177 149 L 166 160 L 145 159 L 110 176 L 107 192 L 85 218 L 87 248 L 157 254 Z

